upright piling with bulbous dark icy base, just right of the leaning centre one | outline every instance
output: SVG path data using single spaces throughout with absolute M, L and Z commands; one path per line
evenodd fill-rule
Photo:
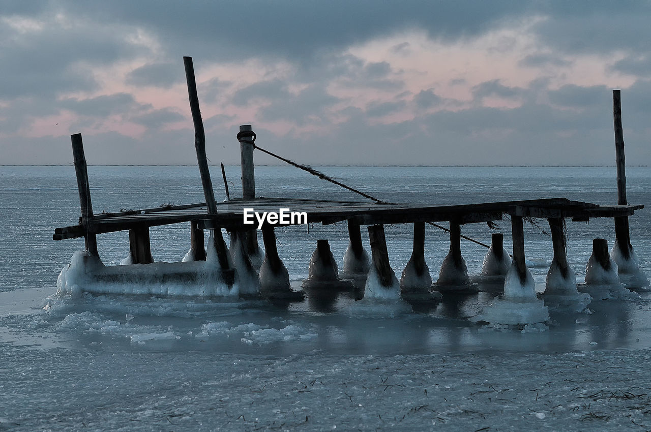
M 413 224 L 413 250 L 411 258 L 400 277 L 400 295 L 413 301 L 433 301 L 441 298 L 441 293 L 431 291 L 432 276 L 425 262 L 425 223 Z

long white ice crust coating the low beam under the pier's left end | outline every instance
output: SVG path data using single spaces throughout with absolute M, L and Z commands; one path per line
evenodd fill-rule
M 74 252 L 57 278 L 57 293 L 143 294 L 161 296 L 237 296 L 236 284 L 221 279 L 215 259 L 195 262 L 105 266 L 89 252 Z

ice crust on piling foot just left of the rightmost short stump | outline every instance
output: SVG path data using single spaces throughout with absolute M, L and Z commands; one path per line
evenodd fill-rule
M 547 272 L 547 282 L 542 298 L 549 310 L 553 312 L 586 312 L 592 297 L 579 293 L 576 288 L 576 275 L 568 268 L 566 277 L 561 273 L 561 267 L 553 260 Z

